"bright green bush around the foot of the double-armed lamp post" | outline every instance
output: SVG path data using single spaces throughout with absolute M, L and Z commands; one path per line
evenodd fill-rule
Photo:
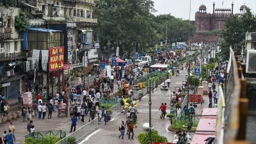
M 138 142 L 140 144 L 148 144 L 148 132 L 140 132 L 137 135 Z M 154 142 L 167 142 L 165 136 L 160 136 L 157 131 L 151 131 L 151 140 Z

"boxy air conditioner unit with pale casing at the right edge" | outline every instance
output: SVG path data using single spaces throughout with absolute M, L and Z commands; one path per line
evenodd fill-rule
M 256 73 L 256 50 L 247 50 L 246 73 Z

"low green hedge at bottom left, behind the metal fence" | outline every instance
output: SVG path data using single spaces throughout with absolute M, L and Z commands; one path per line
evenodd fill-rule
M 43 136 L 40 140 L 35 140 L 34 138 L 25 138 L 24 144 L 52 144 L 60 141 L 60 138 L 56 136 Z

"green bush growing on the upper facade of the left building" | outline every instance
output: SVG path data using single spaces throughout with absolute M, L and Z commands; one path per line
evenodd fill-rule
M 15 29 L 19 32 L 24 31 L 29 28 L 29 20 L 26 19 L 24 13 L 20 13 L 19 16 L 15 17 L 14 22 Z

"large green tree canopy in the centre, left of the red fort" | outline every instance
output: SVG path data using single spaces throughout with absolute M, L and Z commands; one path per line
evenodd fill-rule
M 186 20 L 153 15 L 156 10 L 151 0 L 97 0 L 94 11 L 99 25 L 93 35 L 99 38 L 100 47 L 107 47 L 110 40 L 111 44 L 115 42 L 113 47 L 119 43 L 120 52 L 142 51 L 147 45 L 165 42 L 166 24 L 168 43 L 186 42 L 195 32 L 195 26 Z

